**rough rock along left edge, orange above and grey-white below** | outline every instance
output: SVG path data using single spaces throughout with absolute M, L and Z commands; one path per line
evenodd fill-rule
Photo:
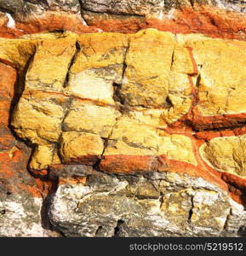
M 50 185 L 27 172 L 31 148 L 9 130 L 15 79 L 14 68 L 0 63 L 0 236 L 57 236 L 40 214 Z

